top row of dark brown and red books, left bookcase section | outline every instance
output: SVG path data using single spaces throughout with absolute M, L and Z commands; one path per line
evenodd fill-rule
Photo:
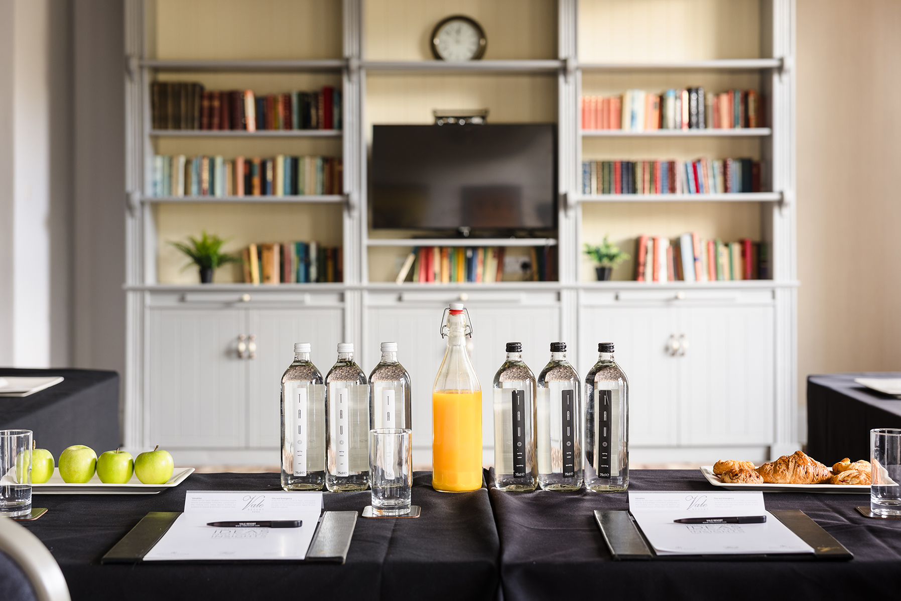
M 253 90 L 205 90 L 196 82 L 150 84 L 155 130 L 340 130 L 341 90 L 257 96 Z

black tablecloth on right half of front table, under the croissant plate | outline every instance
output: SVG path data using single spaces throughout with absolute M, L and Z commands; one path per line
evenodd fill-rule
M 696 470 L 636 469 L 633 490 L 714 490 Z M 488 491 L 501 539 L 509 599 L 896 599 L 901 594 L 901 520 L 854 507 L 869 495 L 765 494 L 767 509 L 800 509 L 854 559 L 833 561 L 614 561 L 595 509 L 628 509 L 627 493 Z M 878 596 L 882 595 L 882 596 Z

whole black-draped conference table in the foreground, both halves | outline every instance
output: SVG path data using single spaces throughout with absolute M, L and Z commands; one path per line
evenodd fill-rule
M 854 554 L 849 561 L 614 561 L 595 509 L 626 493 L 437 493 L 414 474 L 418 518 L 359 518 L 346 562 L 141 563 L 100 559 L 150 511 L 180 511 L 187 490 L 278 490 L 278 474 L 192 474 L 149 496 L 35 496 L 50 511 L 22 523 L 52 552 L 77 599 L 703 599 L 896 598 L 901 520 L 863 517 L 868 495 L 767 493 L 800 509 Z M 486 481 L 491 482 L 486 472 Z M 633 470 L 631 490 L 713 491 L 696 470 Z M 329 511 L 362 513 L 369 491 L 328 493 Z M 881 595 L 881 597 L 880 597 Z

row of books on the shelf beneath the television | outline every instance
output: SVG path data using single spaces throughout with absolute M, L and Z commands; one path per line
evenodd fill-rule
M 505 249 L 492 247 L 420 246 L 410 251 L 396 282 L 448 284 L 504 281 Z M 528 258 L 519 265 L 523 279 L 535 282 L 557 280 L 557 252 L 552 246 L 529 247 Z

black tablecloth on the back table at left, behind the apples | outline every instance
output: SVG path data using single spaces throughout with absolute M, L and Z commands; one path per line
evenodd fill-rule
M 29 396 L 0 396 L 0 430 L 34 433 L 38 447 L 59 453 L 85 444 L 99 455 L 119 446 L 119 375 L 96 369 L 0 369 L 0 376 L 62 376 Z

